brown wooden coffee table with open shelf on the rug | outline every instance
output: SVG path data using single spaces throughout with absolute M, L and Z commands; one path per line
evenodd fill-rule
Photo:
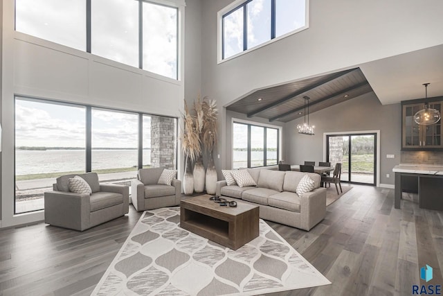
M 258 236 L 259 207 L 233 198 L 237 207 L 223 207 L 210 196 L 181 200 L 180 227 L 233 250 Z

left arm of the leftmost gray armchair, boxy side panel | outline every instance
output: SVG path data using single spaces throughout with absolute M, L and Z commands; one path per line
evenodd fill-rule
M 83 231 L 89 228 L 91 200 L 88 194 L 64 191 L 44 193 L 44 222 Z

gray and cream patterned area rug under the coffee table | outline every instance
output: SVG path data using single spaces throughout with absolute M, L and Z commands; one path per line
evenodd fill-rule
M 331 284 L 260 219 L 233 251 L 179 227 L 180 209 L 145 211 L 92 295 L 257 295 Z

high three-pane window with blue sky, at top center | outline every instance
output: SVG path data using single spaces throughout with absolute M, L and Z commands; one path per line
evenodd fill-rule
M 222 58 L 307 28 L 308 0 L 243 0 L 221 15 Z

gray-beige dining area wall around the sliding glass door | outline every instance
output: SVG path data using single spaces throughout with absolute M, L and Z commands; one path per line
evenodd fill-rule
M 392 168 L 400 163 L 401 105 L 381 105 L 373 92 L 350 101 L 309 114 L 309 123 L 316 126 L 315 135 L 298 134 L 296 126 L 303 119 L 284 125 L 284 138 L 290 151 L 289 162 L 302 164 L 305 160 L 325 160 L 323 134 L 325 132 L 354 132 L 380 130 L 380 183 L 394 185 Z M 386 155 L 395 155 L 394 159 Z M 386 174 L 390 174 L 387 178 Z

